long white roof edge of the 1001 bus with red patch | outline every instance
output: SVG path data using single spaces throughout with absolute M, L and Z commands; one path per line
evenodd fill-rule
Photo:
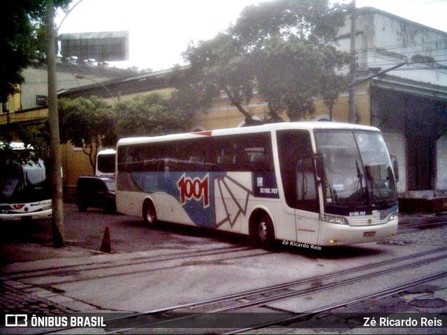
M 221 135 L 233 135 L 233 134 L 245 134 L 245 133 L 258 133 L 265 131 L 275 131 L 282 129 L 302 129 L 302 130 L 314 130 L 314 129 L 358 129 L 364 131 L 379 131 L 376 127 L 362 126 L 359 124 L 346 124 L 343 122 L 330 122 L 330 121 L 300 121 L 300 122 L 281 122 L 278 124 L 264 124 L 262 126 L 249 126 L 240 128 L 226 128 L 217 129 L 214 131 L 198 131 L 195 133 L 183 133 L 161 136 L 143 136 L 143 137 L 126 137 L 118 141 L 119 145 L 125 144 L 138 144 L 146 142 L 163 142 L 172 140 L 191 140 L 198 137 L 210 137 Z

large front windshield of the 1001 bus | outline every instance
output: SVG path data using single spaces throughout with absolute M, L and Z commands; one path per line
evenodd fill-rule
M 397 193 L 383 137 L 373 131 L 315 132 L 325 162 L 325 208 L 390 207 Z

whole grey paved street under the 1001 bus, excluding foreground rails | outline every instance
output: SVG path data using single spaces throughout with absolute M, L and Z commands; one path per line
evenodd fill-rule
M 434 225 L 430 229 L 414 227 L 422 221 L 444 219 L 443 216 L 404 216 L 400 234 L 379 244 L 323 248 L 321 251 L 279 244 L 273 253 L 267 253 L 245 250 L 247 239 L 233 234 L 178 225 L 152 229 L 145 227 L 140 218 L 93 210 L 80 213 L 73 204 L 66 204 L 66 248 L 52 248 L 49 221 L 3 225 L 5 234 L 0 237 L 2 263 L 12 264 L 2 267 L 2 271 L 6 278 L 15 271 L 47 270 L 59 266 L 73 267 L 73 270 L 45 278 L 8 278 L 1 281 L 0 306 L 6 312 L 29 313 L 147 311 L 446 246 L 445 225 Z M 115 251 L 112 255 L 98 253 L 106 227 L 110 228 L 111 246 Z M 139 264 L 140 260 L 154 260 L 159 255 L 177 257 L 210 248 L 233 248 L 235 253 L 200 259 L 186 256 Z M 129 266 L 115 267 L 123 262 L 129 262 Z M 116 273 L 101 269 L 80 271 L 74 267 L 78 264 L 113 265 L 112 271 Z M 432 270 L 420 267 L 417 272 L 420 271 Z M 412 275 L 407 271 L 405 276 Z M 368 286 L 374 288 L 375 285 L 383 285 L 383 281 L 372 282 Z M 362 288 L 353 286 L 349 290 L 354 294 Z M 374 311 L 445 313 L 446 301 L 447 285 L 442 278 L 400 295 L 377 299 L 373 304 L 348 306 L 339 308 L 339 311 L 376 308 Z M 295 299 L 277 303 L 274 307 L 300 311 L 309 303 L 312 304 L 312 299 Z

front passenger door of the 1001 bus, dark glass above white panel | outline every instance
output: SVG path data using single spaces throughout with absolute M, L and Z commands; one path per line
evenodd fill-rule
M 319 231 L 318 185 L 309 131 L 277 131 L 281 181 L 286 201 L 286 221 L 278 239 L 316 244 Z M 288 235 L 284 236 L 284 235 Z

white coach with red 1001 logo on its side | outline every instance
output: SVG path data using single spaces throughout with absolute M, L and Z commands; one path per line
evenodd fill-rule
M 117 210 L 311 247 L 397 230 L 395 173 L 377 128 L 294 122 L 117 144 Z

